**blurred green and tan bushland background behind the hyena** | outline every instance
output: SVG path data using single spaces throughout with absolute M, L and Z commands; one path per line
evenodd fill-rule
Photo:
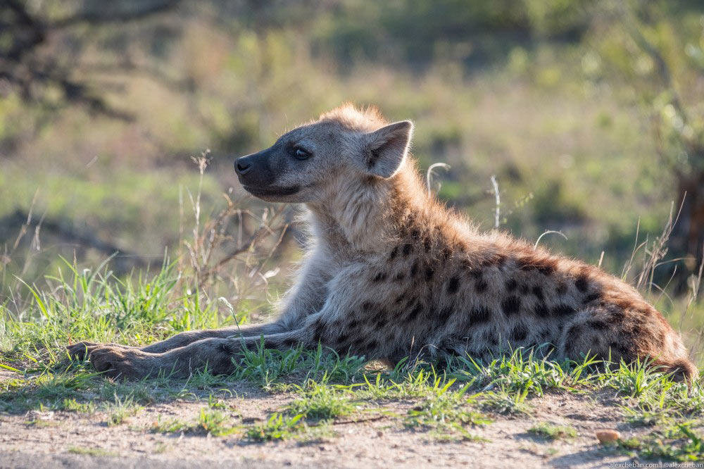
M 617 275 L 686 192 L 667 254 L 679 261 L 660 271 L 667 284 L 677 265 L 681 294 L 698 269 L 702 1 L 6 0 L 3 278 L 41 279 L 59 255 L 160 265 L 191 223 L 191 156 L 210 149 L 206 216 L 222 193 L 259 210 L 234 157 L 344 101 L 414 120 L 421 168 L 451 165 L 439 196 L 482 227 L 496 175 L 501 228 L 560 230 L 541 243 L 590 263 L 603 252 Z

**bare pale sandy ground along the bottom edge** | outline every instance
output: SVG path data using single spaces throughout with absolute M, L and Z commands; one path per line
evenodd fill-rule
M 232 391 L 237 396 L 222 397 L 222 411 L 241 425 L 263 421 L 290 399 L 246 384 Z M 343 420 L 332 425 L 331 436 L 305 442 L 254 443 L 241 432 L 225 437 L 151 432 L 160 415 L 162 420 L 194 420 L 207 406 L 202 400 L 151 404 L 115 426 L 106 425 L 106 413 L 100 411 L 0 413 L 0 468 L 591 468 L 629 461 L 596 441 L 596 430 L 636 434 L 620 423 L 620 410 L 605 393 L 555 393 L 530 404 L 535 407 L 531 416 L 491 415 L 494 423 L 470 430 L 486 442 L 441 442 L 425 431 L 404 427 L 401 417 L 415 405 L 411 401 L 381 404 L 396 417 L 360 415 L 365 421 Z M 538 421 L 572 425 L 578 436 L 550 442 L 529 434 Z

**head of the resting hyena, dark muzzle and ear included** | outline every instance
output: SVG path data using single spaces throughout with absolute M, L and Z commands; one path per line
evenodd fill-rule
M 234 161 L 247 192 L 267 201 L 324 202 L 341 181 L 393 177 L 408 154 L 413 124 L 388 124 L 375 109 L 342 106 L 285 133 L 268 149 Z

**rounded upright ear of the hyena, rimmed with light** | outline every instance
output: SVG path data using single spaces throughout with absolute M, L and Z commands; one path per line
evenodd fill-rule
M 391 177 L 401 168 L 408 154 L 413 123 L 401 120 L 366 134 L 364 164 L 368 173 L 379 177 Z

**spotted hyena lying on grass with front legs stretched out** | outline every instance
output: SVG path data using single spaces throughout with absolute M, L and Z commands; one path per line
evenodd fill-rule
M 246 191 L 306 204 L 313 243 L 272 323 L 183 332 L 143 348 L 80 343 L 107 376 L 229 373 L 243 347 L 318 343 L 394 363 L 489 358 L 547 344 L 555 358 L 649 358 L 697 375 L 679 334 L 641 295 L 586 263 L 482 233 L 437 201 L 408 156 L 413 124 L 343 106 L 238 158 Z M 543 347 L 546 348 L 546 347 Z

